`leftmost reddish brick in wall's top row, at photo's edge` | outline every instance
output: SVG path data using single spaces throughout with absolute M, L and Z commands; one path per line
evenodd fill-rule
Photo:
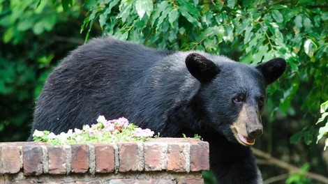
M 20 171 L 19 146 L 1 146 L 0 157 L 0 173 L 15 174 Z

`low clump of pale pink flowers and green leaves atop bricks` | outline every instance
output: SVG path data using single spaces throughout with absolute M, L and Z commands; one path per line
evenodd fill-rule
M 122 117 L 107 121 L 105 116 L 99 116 L 96 124 L 84 125 L 82 130 L 75 128 L 68 132 L 61 132 L 54 135 L 48 130 L 33 132 L 33 141 L 43 141 L 53 145 L 60 144 L 91 144 L 91 143 L 109 143 L 117 142 L 142 142 L 153 137 L 154 132 L 150 129 L 138 128 L 128 119 Z

